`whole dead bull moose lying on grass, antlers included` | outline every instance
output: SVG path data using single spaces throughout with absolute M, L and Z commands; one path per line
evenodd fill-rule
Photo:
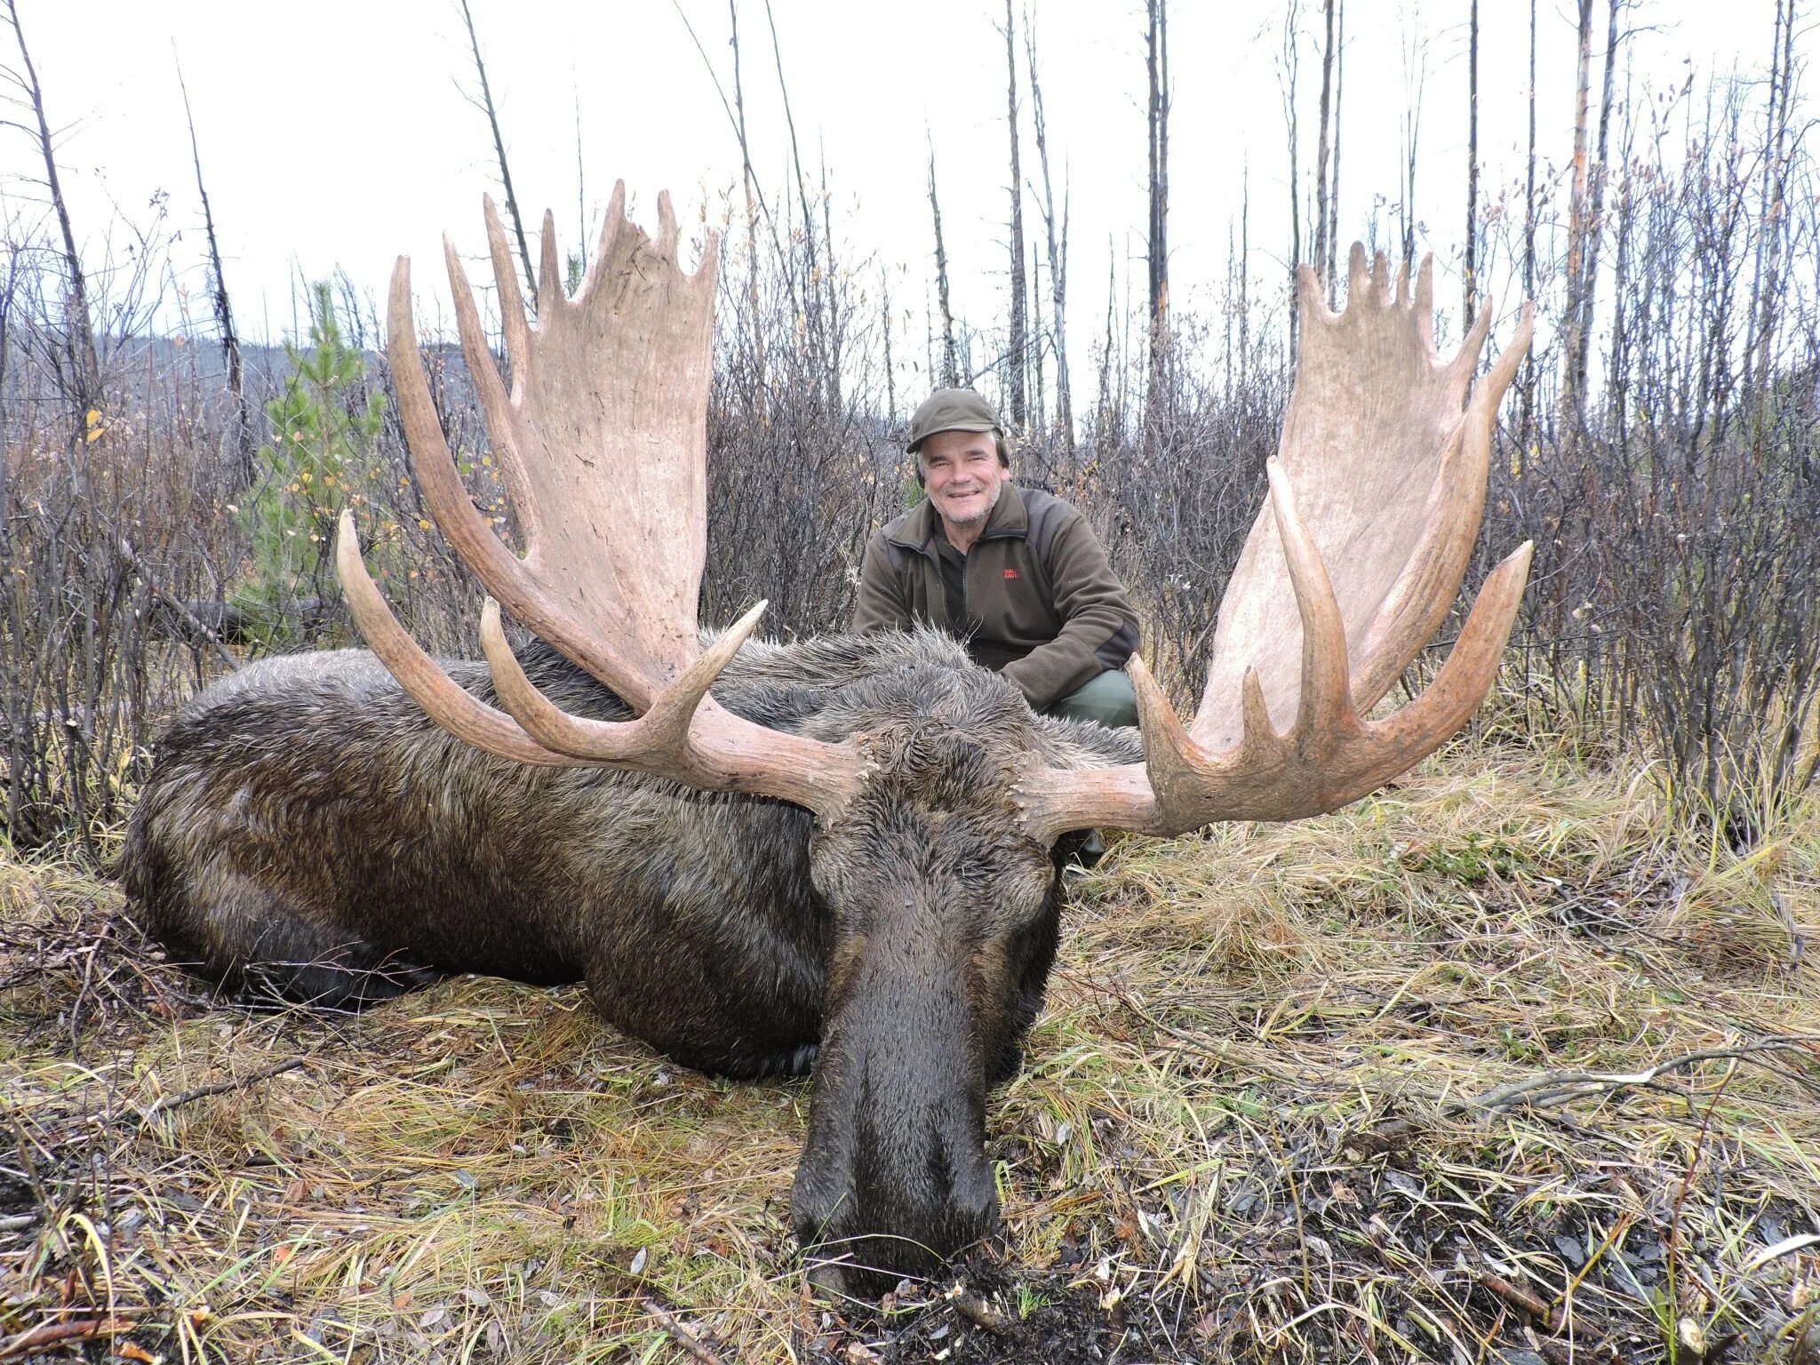
M 1372 792 L 1485 699 L 1529 570 L 1498 564 L 1445 666 L 1367 719 L 1452 608 L 1498 402 L 1531 317 L 1474 382 L 1432 273 L 1350 257 L 1345 309 L 1299 278 L 1269 497 L 1183 724 L 1132 659 L 1141 726 L 1036 715 L 934 633 L 697 628 L 717 240 L 679 264 L 615 191 L 564 297 L 550 218 L 535 322 L 491 202 L 500 379 L 446 244 L 462 349 L 526 553 L 470 500 L 391 277 L 388 349 L 424 499 L 491 593 L 486 662 L 393 619 L 344 513 L 371 653 L 268 659 L 171 724 L 124 883 L 149 930 L 238 990 L 360 1005 L 446 972 L 584 981 L 615 1026 L 737 1077 L 814 1074 L 792 1221 L 819 1278 L 875 1292 L 997 1218 L 988 1090 L 1056 954 L 1068 835 L 1289 821 Z M 1471 393 L 1469 393 L 1471 389 Z M 500 608 L 537 639 L 508 644 Z M 712 692 L 710 692 L 712 688 Z

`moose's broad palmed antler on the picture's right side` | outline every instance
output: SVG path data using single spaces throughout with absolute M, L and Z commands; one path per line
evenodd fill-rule
M 1491 309 L 1443 364 L 1431 260 L 1414 297 L 1407 266 L 1392 297 L 1383 255 L 1367 273 L 1361 246 L 1349 275 L 1347 306 L 1332 313 L 1301 268 L 1296 388 L 1269 464 L 1270 495 L 1219 604 L 1194 723 L 1181 724 L 1134 655 L 1145 763 L 1032 768 L 1019 801 L 1039 839 L 1096 824 L 1181 834 L 1320 815 L 1420 763 L 1485 701 L 1529 544 L 1485 579 L 1427 692 L 1365 719 L 1460 592 L 1485 506 L 1492 419 L 1529 349 L 1532 309 L 1523 306 L 1511 346 L 1472 382 Z

